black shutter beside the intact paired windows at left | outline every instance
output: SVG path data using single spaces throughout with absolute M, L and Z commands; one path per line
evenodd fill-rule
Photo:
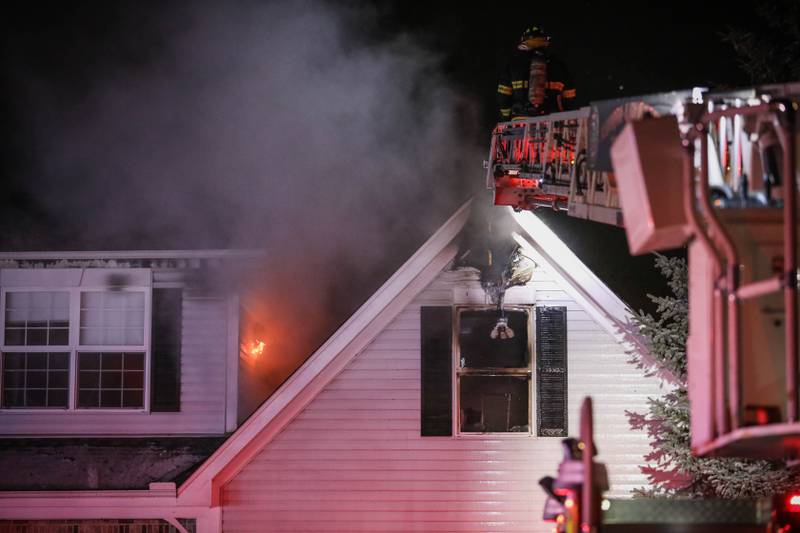
M 153 289 L 150 410 L 180 411 L 182 289 Z

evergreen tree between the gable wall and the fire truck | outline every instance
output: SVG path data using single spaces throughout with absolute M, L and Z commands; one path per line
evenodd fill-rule
M 653 451 L 646 457 L 650 466 L 642 467 L 651 487 L 639 489 L 637 494 L 736 499 L 769 496 L 797 487 L 797 473 L 783 461 L 692 455 L 686 391 L 689 326 L 686 261 L 657 255 L 656 267 L 667 279 L 672 294 L 648 295 L 657 306 L 656 316 L 640 311 L 635 317 L 652 359 L 634 356 L 634 361 L 650 374 L 668 371 L 675 384 L 662 397 L 649 399 L 647 413 L 629 413 L 634 428 L 646 430 L 653 444 Z

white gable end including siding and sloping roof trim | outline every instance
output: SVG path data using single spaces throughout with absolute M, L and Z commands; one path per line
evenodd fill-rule
M 476 271 L 445 270 L 468 214 L 467 204 L 177 494 L 159 495 L 161 507 L 153 498 L 123 500 L 120 491 L 71 494 L 81 516 L 196 516 L 199 530 L 209 532 L 223 520 L 230 531 L 266 524 L 297 530 L 303 522 L 326 531 L 542 530 L 536 480 L 553 473 L 560 439 L 419 435 L 420 308 L 486 301 Z M 537 268 L 507 301 L 566 308 L 569 410 L 577 411 L 582 395 L 595 396 L 604 422 L 600 460 L 610 466 L 611 496 L 624 495 L 644 483 L 638 465 L 647 442 L 630 433 L 621 413 L 659 390 L 627 364 L 626 348 L 612 334 L 619 315 L 604 305 L 624 306 L 595 298 L 604 287 L 582 293 L 575 284 L 592 281 L 588 269 L 562 261 L 569 256 L 553 252 L 557 242 L 540 242 L 546 236 L 520 225 L 518 241 Z M 577 420 L 569 422 L 575 433 Z M 149 498 L 153 489 L 143 492 Z M 15 497 L 3 495 L 0 515 L 18 516 Z M 36 509 L 31 518 L 76 513 L 49 492 L 26 498 L 25 507 Z

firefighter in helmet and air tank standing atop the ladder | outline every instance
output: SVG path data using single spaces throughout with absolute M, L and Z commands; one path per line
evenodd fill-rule
M 538 26 L 522 33 L 497 85 L 500 122 L 574 107 L 575 86 L 549 45 L 550 36 Z

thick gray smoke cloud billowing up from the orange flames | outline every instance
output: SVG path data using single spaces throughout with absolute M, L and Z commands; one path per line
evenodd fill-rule
M 441 58 L 362 33 L 375 16 L 173 8 L 156 51 L 78 105 L 40 89 L 30 190 L 92 245 L 265 249 L 262 317 L 296 332 L 288 371 L 481 184 Z

